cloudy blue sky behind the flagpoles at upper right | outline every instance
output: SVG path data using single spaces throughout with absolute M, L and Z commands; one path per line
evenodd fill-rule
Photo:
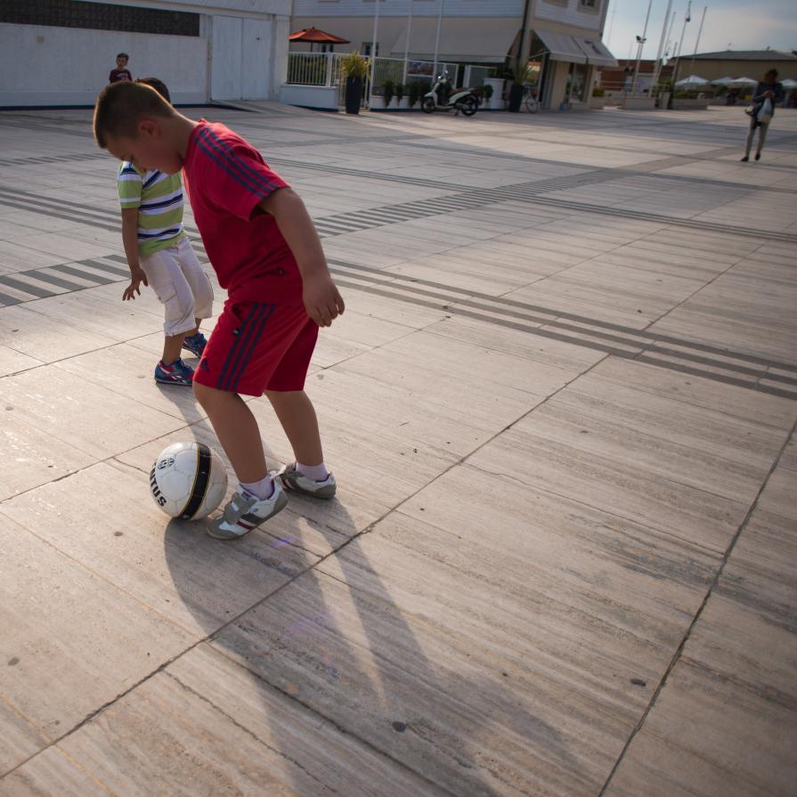
M 615 58 L 637 57 L 636 37 L 642 36 L 648 0 L 609 0 L 604 44 Z M 698 53 L 718 50 L 797 50 L 797 2 L 795 0 L 694 0 L 692 20 L 687 23 L 681 54 L 695 51 L 703 8 L 708 6 Z M 647 23 L 643 58 L 655 58 L 662 37 L 667 0 L 653 0 Z M 678 42 L 687 12 L 687 0 L 672 0 L 675 22 L 671 40 Z M 666 47 L 666 45 L 665 45 Z

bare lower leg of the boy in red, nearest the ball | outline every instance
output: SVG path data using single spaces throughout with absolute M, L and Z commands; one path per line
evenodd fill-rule
M 194 382 L 194 395 L 207 412 L 238 480 L 255 483 L 268 475 L 255 416 L 237 393 Z

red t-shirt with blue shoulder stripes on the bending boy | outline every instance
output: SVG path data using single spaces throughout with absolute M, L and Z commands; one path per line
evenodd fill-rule
M 274 217 L 257 207 L 288 183 L 240 135 L 204 119 L 191 133 L 183 175 L 205 251 L 230 298 L 301 304 L 296 258 Z

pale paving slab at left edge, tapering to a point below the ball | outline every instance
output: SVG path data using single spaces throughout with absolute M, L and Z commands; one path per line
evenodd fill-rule
M 191 637 L 162 614 L 4 512 L 0 539 L 0 694 L 10 736 L 23 733 L 28 749 L 34 731 L 48 741 L 69 732 L 190 644 Z M 18 743 L 12 766 L 25 752 Z

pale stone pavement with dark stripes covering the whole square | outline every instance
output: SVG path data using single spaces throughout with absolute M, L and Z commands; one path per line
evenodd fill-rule
M 759 164 L 739 109 L 202 113 L 346 297 L 339 497 L 166 522 L 152 459 L 218 444 L 120 301 L 116 165 L 0 114 L 0 794 L 792 794 L 797 113 Z

